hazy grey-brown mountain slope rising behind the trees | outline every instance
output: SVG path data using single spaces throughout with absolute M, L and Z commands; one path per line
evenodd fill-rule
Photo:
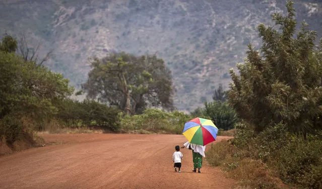
M 322 3 L 295 1 L 299 22 L 322 32 Z M 246 45 L 259 47 L 256 26 L 286 14 L 286 1 L 273 0 L 0 0 L 1 35 L 24 32 L 43 41 L 55 57 L 45 64 L 73 85 L 85 82 L 87 58 L 109 51 L 154 54 L 172 70 L 175 106 L 192 111 L 212 100 L 228 70 L 243 62 Z M 319 35 L 321 36 L 321 35 Z

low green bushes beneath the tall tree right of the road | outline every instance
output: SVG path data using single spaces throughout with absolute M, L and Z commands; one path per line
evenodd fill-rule
M 268 127 L 254 133 L 246 124 L 236 125 L 232 139 L 235 151 L 226 156 L 226 168 L 234 163 L 242 167 L 242 159 L 259 160 L 285 183 L 297 188 L 321 188 L 322 186 L 322 141 L 319 135 L 292 134 L 283 124 Z M 229 170 L 229 168 L 227 168 Z

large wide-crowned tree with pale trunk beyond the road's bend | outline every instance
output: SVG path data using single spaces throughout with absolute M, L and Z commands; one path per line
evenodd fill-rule
M 82 85 L 88 98 L 117 106 L 127 114 L 142 113 L 148 106 L 173 109 L 171 72 L 155 55 L 114 53 L 93 58 L 91 66 Z

